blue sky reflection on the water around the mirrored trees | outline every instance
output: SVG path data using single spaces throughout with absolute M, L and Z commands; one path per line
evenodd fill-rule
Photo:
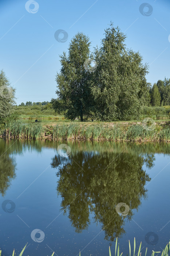
M 12 252 L 13 247 L 16 248 L 16 252 L 19 252 L 26 242 L 28 242 L 30 245 L 26 251 L 27 255 L 35 255 L 35 253 L 41 254 L 42 252 L 44 255 L 50 255 L 51 251 L 49 247 L 55 250 L 58 255 L 64 255 L 64 253 L 65 255 L 76 255 L 79 252 L 79 249 L 82 250 L 92 240 L 84 249 L 82 255 L 87 255 L 88 253 L 89 255 L 90 253 L 93 253 L 93 255 L 96 255 L 96 253 L 98 253 L 98 255 L 107 255 L 110 242 L 104 240 L 104 232 L 101 230 L 101 224 L 98 223 L 96 226 L 94 219 L 95 215 L 93 212 L 90 213 L 91 223 L 88 226 L 88 229 L 83 230 L 82 233 L 76 233 L 75 227 L 71 226 L 68 212 L 64 215 L 64 212 L 60 210 L 63 197 L 60 195 L 57 196 L 56 187 L 60 176 L 57 177 L 56 172 L 58 172 L 59 168 L 62 169 L 64 167 L 64 162 L 61 163 L 57 169 L 51 167 L 50 164 L 52 163 L 52 158 L 57 155 L 56 148 L 60 144 L 53 143 L 54 148 L 50 148 L 49 146 L 52 145 L 52 143 L 53 142 L 51 142 L 51 144 L 47 143 L 47 147 L 45 144 L 41 147 L 41 144 L 43 144 L 41 142 L 28 143 L 28 147 L 24 143 L 24 146 L 21 147 L 21 142 L 20 146 L 19 143 L 16 143 L 16 147 L 13 146 L 14 152 L 17 151 L 17 148 L 19 153 L 21 153 L 22 150 L 23 152 L 22 154 L 15 154 L 13 156 L 17 164 L 15 170 L 16 178 L 11 181 L 11 185 L 6 191 L 5 196 L 0 197 L 0 204 L 6 199 L 10 199 L 16 204 L 13 213 L 7 214 L 2 210 L 0 212 L 1 248 L 3 249 L 4 254 L 8 252 L 9 255 L 9 253 Z M 88 145 L 90 145 L 90 143 L 86 143 L 86 147 Z M 90 146 L 88 152 L 86 151 L 86 148 L 84 158 L 82 158 L 82 162 L 80 162 L 85 165 L 88 158 L 95 157 L 96 163 L 98 163 L 97 159 L 101 155 L 103 155 L 103 160 L 105 159 L 105 161 L 107 161 L 108 155 L 106 149 L 108 147 L 109 152 L 112 143 L 108 144 L 108 146 L 102 146 L 103 153 L 95 150 L 94 144 L 91 145 L 92 151 L 90 151 Z M 69 144 L 69 146 L 71 145 Z M 142 155 L 143 152 L 147 152 L 147 146 L 142 147 L 143 152 L 139 150 L 139 147 L 140 146 L 135 148 L 135 154 Z M 75 157 L 79 152 L 78 147 L 72 146 L 71 148 L 72 155 L 67 159 L 68 161 L 66 161 L 70 164 L 72 164 L 71 158 Z M 119 149 L 116 145 L 114 145 L 113 148 L 115 151 L 116 148 Z M 139 154 L 137 153 L 138 150 Z M 162 150 L 163 147 L 161 151 Z M 131 148 L 127 146 L 127 154 L 128 151 L 130 152 Z M 166 151 L 168 151 L 167 145 Z M 120 155 L 118 154 L 117 158 L 119 158 Z M 123 228 L 126 233 L 119 239 L 120 251 L 123 251 L 124 253 L 128 252 L 129 239 L 131 241 L 131 246 L 133 246 L 134 236 L 137 246 L 139 246 L 140 241 L 142 241 L 142 248 L 143 246 L 145 248 L 148 247 L 148 252 L 152 249 L 159 251 L 160 246 L 163 248 L 166 245 L 166 242 L 169 241 L 170 224 L 167 223 L 169 221 L 170 210 L 168 204 L 169 179 L 167 178 L 169 177 L 169 155 L 163 153 L 156 153 L 153 155 L 155 158 L 154 166 L 151 169 L 148 169 L 145 163 L 143 165 L 143 170 L 146 170 L 151 178 L 150 182 L 146 181 L 145 187 L 148 189 L 146 198 L 142 197 L 138 211 L 135 209 L 133 210 L 134 215 L 131 221 L 126 221 L 126 216 L 124 217 L 125 222 Z M 80 158 L 81 157 L 78 159 Z M 76 161 L 76 158 L 74 159 Z M 64 161 L 63 158 L 61 158 L 61 160 Z M 114 166 L 115 163 L 116 160 L 111 163 L 111 166 Z M 163 167 L 165 168 L 163 169 Z M 77 169 L 77 171 L 79 170 Z M 93 172 L 93 170 L 91 171 Z M 110 174 L 108 173 L 108 175 Z M 70 180 L 73 180 L 71 178 L 72 177 L 70 177 Z M 76 178 L 77 177 L 75 177 L 75 180 Z M 108 180 L 112 180 L 112 175 L 108 177 Z M 106 186 L 110 186 L 110 184 L 108 183 Z M 133 182 L 130 186 L 133 188 Z M 101 191 L 98 192 L 100 193 Z M 110 204 L 111 200 L 112 199 L 110 198 L 110 201 L 108 200 L 107 203 Z M 68 206 L 68 208 L 69 207 L 70 206 Z M 93 202 L 91 207 L 95 207 Z M 113 212 L 111 211 L 110 215 L 112 214 Z M 163 228 L 163 226 L 165 227 Z M 31 239 L 31 232 L 34 229 L 40 229 L 44 232 L 45 238 L 43 242 L 36 243 Z M 148 245 L 145 241 L 145 235 L 150 231 L 153 231 L 159 237 L 159 241 L 156 245 Z M 153 236 L 151 236 L 150 240 L 153 239 Z M 112 244 L 114 245 L 114 242 Z M 113 253 L 112 246 L 111 250 Z M 142 253 L 145 253 L 144 250 L 145 249 L 143 249 Z

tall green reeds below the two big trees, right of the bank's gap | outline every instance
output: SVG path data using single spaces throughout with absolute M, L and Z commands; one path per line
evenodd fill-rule
M 58 124 L 53 128 L 54 140 L 170 141 L 170 128 L 146 130 L 141 124 L 127 127 L 109 124 Z

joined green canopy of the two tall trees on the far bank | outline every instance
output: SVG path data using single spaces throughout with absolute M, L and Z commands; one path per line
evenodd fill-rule
M 139 52 L 129 50 L 119 27 L 105 30 L 100 48 L 90 53 L 89 38 L 77 33 L 60 56 L 61 70 L 56 75 L 58 99 L 54 109 L 65 111 L 68 119 L 96 117 L 102 121 L 137 118 L 147 102 L 147 65 Z M 95 61 L 95 66 L 91 65 Z

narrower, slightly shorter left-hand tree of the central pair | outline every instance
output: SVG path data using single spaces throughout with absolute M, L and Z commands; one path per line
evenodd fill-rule
M 62 68 L 56 75 L 58 99 L 56 103 L 53 100 L 53 105 L 56 111 L 65 110 L 65 116 L 71 120 L 80 117 L 83 121 L 92 116 L 93 101 L 89 86 L 91 73 L 84 68 L 84 61 L 89 57 L 90 42 L 83 33 L 72 38 L 68 56 L 66 52 L 60 56 Z

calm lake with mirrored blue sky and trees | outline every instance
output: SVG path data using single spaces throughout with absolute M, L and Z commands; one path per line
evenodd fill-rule
M 123 255 L 170 239 L 170 144 L 0 139 L 0 248 Z M 161 255 L 161 254 L 159 254 Z

